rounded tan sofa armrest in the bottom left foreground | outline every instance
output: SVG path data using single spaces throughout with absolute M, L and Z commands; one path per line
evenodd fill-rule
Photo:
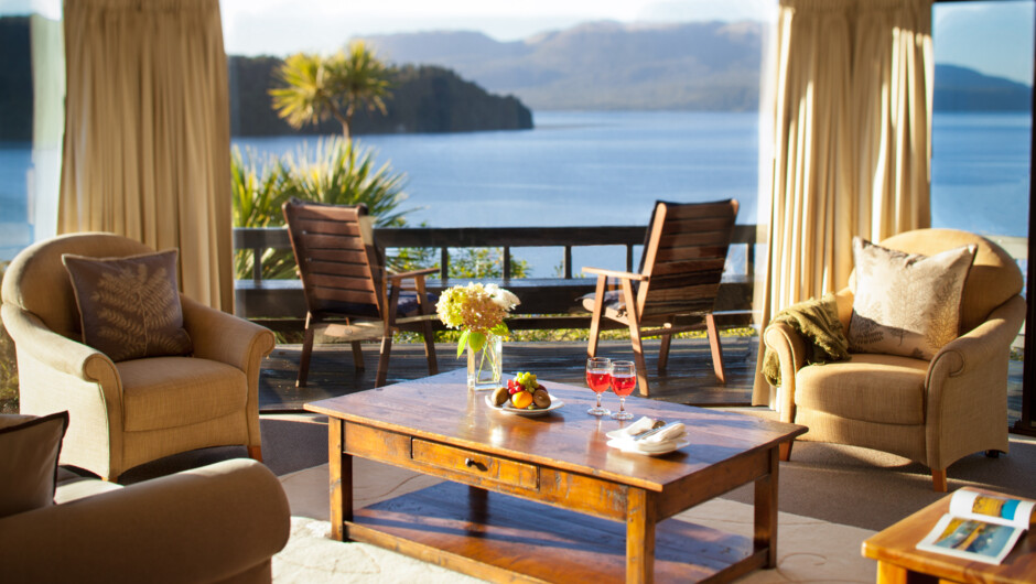
M 288 542 L 284 490 L 233 459 L 0 519 L 11 582 L 214 582 Z

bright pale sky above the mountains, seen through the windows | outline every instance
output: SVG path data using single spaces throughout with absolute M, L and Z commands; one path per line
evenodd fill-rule
M 330 53 L 349 37 L 433 30 L 481 31 L 498 41 L 587 21 L 763 20 L 777 0 L 222 0 L 224 42 L 235 55 Z M 0 14 L 56 18 L 61 0 L 0 0 Z M 936 4 L 937 63 L 1032 84 L 1036 2 Z

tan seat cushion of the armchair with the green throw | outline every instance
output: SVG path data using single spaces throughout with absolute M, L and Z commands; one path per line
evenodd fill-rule
M 925 423 L 928 361 L 859 353 L 849 361 L 799 369 L 795 403 L 839 418 L 885 424 Z

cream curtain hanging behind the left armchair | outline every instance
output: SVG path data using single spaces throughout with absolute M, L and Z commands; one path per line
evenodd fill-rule
M 230 123 L 218 0 L 65 0 L 58 232 L 180 249 L 181 288 L 233 311 Z

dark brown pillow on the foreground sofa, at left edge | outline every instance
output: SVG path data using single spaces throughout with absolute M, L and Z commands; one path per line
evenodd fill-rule
M 54 504 L 68 412 L 0 415 L 0 517 Z

